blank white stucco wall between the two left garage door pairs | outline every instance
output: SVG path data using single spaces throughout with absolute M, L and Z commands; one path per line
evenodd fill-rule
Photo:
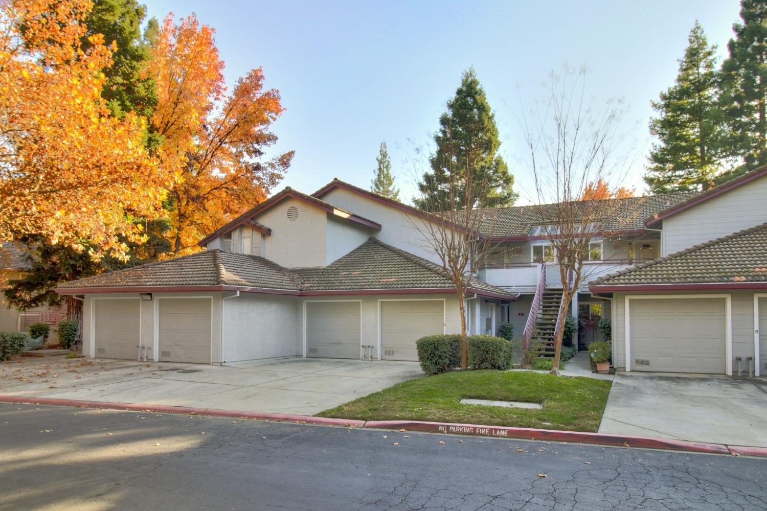
M 298 297 L 242 293 L 223 307 L 223 362 L 301 355 Z

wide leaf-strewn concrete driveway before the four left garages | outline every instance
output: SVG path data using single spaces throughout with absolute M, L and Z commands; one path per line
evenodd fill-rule
M 219 367 L 21 358 L 0 364 L 0 394 L 313 415 L 421 376 L 416 362 L 278 359 Z

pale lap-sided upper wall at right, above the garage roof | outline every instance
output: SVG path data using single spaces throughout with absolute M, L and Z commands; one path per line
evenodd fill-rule
M 767 221 L 767 176 L 663 220 L 662 256 Z

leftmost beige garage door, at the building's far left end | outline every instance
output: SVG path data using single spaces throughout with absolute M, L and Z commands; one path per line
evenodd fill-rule
M 141 300 L 97 299 L 93 300 L 93 304 L 96 356 L 137 360 Z

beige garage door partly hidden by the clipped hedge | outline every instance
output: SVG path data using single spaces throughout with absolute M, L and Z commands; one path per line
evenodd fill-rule
M 418 360 L 416 340 L 444 332 L 442 300 L 381 302 L 381 352 L 386 360 Z

